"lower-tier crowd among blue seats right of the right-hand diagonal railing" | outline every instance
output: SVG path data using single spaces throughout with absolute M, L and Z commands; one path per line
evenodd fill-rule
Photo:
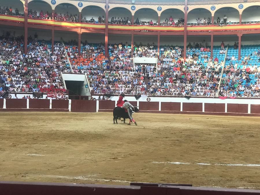
M 228 53 L 235 52 L 236 43 Z M 250 46 L 241 49 L 241 60 L 227 55 L 220 84 L 220 96 L 260 97 L 260 49 Z M 244 57 L 243 57 L 244 54 Z

